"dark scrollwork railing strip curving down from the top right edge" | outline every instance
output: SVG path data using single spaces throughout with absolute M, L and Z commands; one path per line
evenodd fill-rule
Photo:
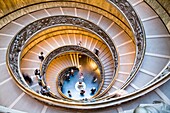
M 129 83 L 129 81 L 131 81 L 134 78 L 139 67 L 141 66 L 144 53 L 145 53 L 145 43 L 146 43 L 145 33 L 144 33 L 142 23 L 138 18 L 138 15 L 136 14 L 135 10 L 127 0 L 109 0 L 109 1 L 114 5 L 116 5 L 118 9 L 120 9 L 125 15 L 125 17 L 128 19 L 129 24 L 131 25 L 132 30 L 134 32 L 135 41 L 136 41 L 137 56 L 130 77 L 122 87 L 125 88 L 125 86 Z

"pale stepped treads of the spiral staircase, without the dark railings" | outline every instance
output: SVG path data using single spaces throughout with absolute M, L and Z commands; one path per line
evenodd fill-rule
M 35 112 L 35 113 L 52 113 L 52 112 L 96 112 L 94 108 L 100 108 L 97 112 L 114 112 L 114 113 L 132 113 L 139 104 L 150 104 L 155 100 L 163 100 L 170 104 L 170 93 L 168 86 L 170 85 L 169 70 L 166 73 L 165 82 L 160 83 L 161 86 L 155 86 L 146 89 L 147 93 L 140 93 L 140 89 L 146 88 L 154 83 L 157 78 L 170 66 L 170 33 L 162 22 L 157 13 L 143 0 L 128 0 L 133 9 L 141 20 L 144 29 L 144 37 L 146 37 L 146 49 L 141 67 L 135 74 L 126 87 L 130 74 L 136 63 L 137 46 L 133 35 L 129 32 L 131 26 L 123 20 L 114 17 L 114 15 L 106 16 L 92 9 L 80 6 L 44 6 L 45 8 L 36 9 L 34 12 L 29 12 L 19 15 L 16 19 L 9 20 L 0 29 L 0 105 L 6 107 L 1 110 L 17 110 L 18 112 Z M 48 2 L 47 2 L 48 3 Z M 73 2 L 74 3 L 74 2 Z M 77 2 L 76 2 L 77 3 Z M 108 1 L 108 4 L 112 3 Z M 49 2 L 50 4 L 50 2 Z M 77 3 L 78 4 L 78 3 Z M 80 3 L 81 4 L 81 3 Z M 39 4 L 37 4 L 38 6 Z M 87 5 L 88 4 L 84 4 Z M 35 5 L 36 7 L 36 5 Z M 42 6 L 43 7 L 43 6 Z M 93 7 L 89 5 L 89 7 Z M 114 6 L 113 6 L 114 7 Z M 96 8 L 96 7 L 95 7 Z M 107 14 L 106 10 L 102 10 Z M 16 11 L 17 12 L 17 11 Z M 107 14 L 109 15 L 109 14 Z M 7 50 L 13 37 L 24 27 L 34 21 L 51 16 L 72 16 L 92 22 L 101 28 L 112 40 L 115 50 L 118 54 L 118 67 L 115 66 L 115 57 L 109 47 L 109 44 L 94 31 L 88 31 L 85 28 L 75 27 L 73 25 L 65 25 L 59 27 L 49 27 L 38 32 L 32 37 L 32 40 L 25 46 L 25 51 L 21 57 L 20 70 L 22 73 L 27 73 L 33 80 L 30 87 L 32 91 L 40 90 L 38 80 L 34 75 L 35 69 L 40 69 L 41 61 L 38 59 L 40 52 L 46 57 L 51 51 L 66 45 L 78 45 L 81 41 L 81 47 L 94 52 L 94 49 L 99 50 L 98 58 L 104 68 L 104 84 L 100 92 L 100 97 L 103 100 L 98 100 L 99 103 L 107 101 L 108 96 L 112 95 L 116 90 L 123 89 L 135 98 L 137 93 L 138 98 L 128 100 L 130 96 L 123 96 L 126 102 L 120 101 L 114 103 L 112 99 L 108 100 L 108 104 L 100 104 L 86 107 L 89 110 L 77 110 L 77 107 L 71 106 L 74 109 L 65 109 L 62 107 L 52 107 L 48 104 L 41 103 L 24 91 L 20 90 L 15 84 L 13 77 L 8 72 L 6 66 Z M 116 18 L 116 19 L 115 19 Z M 2 21 L 2 19 L 0 20 Z M 122 26 L 121 26 L 122 25 Z M 37 25 L 38 26 L 38 25 Z M 58 94 L 56 86 L 56 76 L 58 73 L 69 66 L 78 66 L 78 55 L 65 55 L 56 58 L 46 72 L 46 82 L 51 86 L 51 90 Z M 116 69 L 116 70 L 115 70 Z M 160 78 L 161 79 L 161 78 Z M 158 79 L 159 80 L 159 79 Z M 19 85 L 18 85 L 19 86 Z M 20 87 L 20 86 L 19 86 Z M 33 96 L 34 97 L 34 96 Z M 100 98 L 98 97 L 98 98 Z M 118 99 L 121 97 L 118 97 Z M 113 100 L 116 98 L 113 98 Z M 62 102 L 61 100 L 60 102 Z M 33 104 L 35 103 L 35 104 Z M 86 103 L 85 103 L 86 104 Z M 103 108 L 109 106 L 107 108 Z M 30 109 L 33 108 L 33 109 Z M 83 108 L 79 108 L 83 109 Z M 3 111 L 4 112 L 4 111 Z

